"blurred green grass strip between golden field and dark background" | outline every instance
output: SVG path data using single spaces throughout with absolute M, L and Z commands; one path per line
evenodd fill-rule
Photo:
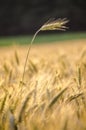
M 0 46 L 15 45 L 15 44 L 29 44 L 31 42 L 32 36 L 9 36 L 0 37 Z M 34 43 L 50 43 L 55 41 L 66 41 L 66 40 L 76 40 L 76 39 L 86 39 L 86 33 L 62 33 L 62 34 L 38 34 L 35 38 Z

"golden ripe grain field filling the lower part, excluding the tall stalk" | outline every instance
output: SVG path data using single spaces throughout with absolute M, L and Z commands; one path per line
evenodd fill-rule
M 86 40 L 0 48 L 0 130 L 86 130 Z

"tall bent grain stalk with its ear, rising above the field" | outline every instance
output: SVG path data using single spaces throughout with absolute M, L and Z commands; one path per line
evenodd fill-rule
M 31 50 L 31 46 L 32 46 L 32 43 L 35 39 L 35 37 L 37 36 L 37 34 L 40 32 L 40 31 L 47 31 L 47 30 L 65 30 L 67 27 L 65 26 L 65 24 L 68 23 L 68 20 L 67 19 L 57 19 L 57 20 L 53 20 L 53 21 L 48 21 L 46 22 L 43 26 L 41 26 L 37 31 L 36 33 L 34 34 L 32 40 L 31 40 L 31 43 L 30 43 L 30 46 L 28 48 L 28 51 L 27 51 L 27 55 L 26 55 L 26 59 L 25 59 L 25 64 L 24 64 L 24 70 L 23 70 L 23 75 L 22 75 L 22 80 L 21 80 L 21 83 L 24 82 L 24 76 L 25 76 L 25 69 L 26 69 L 26 65 L 27 65 L 27 61 L 28 61 L 28 57 L 29 57 L 29 53 L 30 53 L 30 50 Z

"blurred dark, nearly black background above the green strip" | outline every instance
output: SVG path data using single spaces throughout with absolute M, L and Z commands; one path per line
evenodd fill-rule
M 34 33 L 49 18 L 67 18 L 86 31 L 86 0 L 0 0 L 0 36 Z

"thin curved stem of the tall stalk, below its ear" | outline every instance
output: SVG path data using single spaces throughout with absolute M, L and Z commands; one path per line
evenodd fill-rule
M 37 34 L 39 33 L 39 31 L 40 31 L 40 29 L 38 29 L 38 30 L 36 31 L 36 33 L 34 34 L 32 40 L 31 40 L 30 46 L 29 46 L 29 48 L 28 48 L 28 51 L 27 51 L 27 55 L 26 55 L 26 59 L 25 59 L 25 64 L 24 64 L 23 75 L 22 75 L 22 80 L 21 80 L 22 83 L 24 82 L 26 65 L 27 65 L 28 57 L 29 57 L 30 50 L 31 50 L 31 47 L 32 47 L 32 43 L 34 42 L 34 39 L 35 39 L 35 37 L 37 36 Z

